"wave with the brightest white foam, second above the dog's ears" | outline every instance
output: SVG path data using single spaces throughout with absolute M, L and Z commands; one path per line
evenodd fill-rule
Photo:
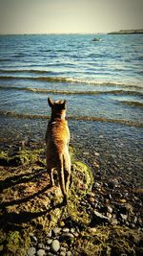
M 13 71 L 14 72 L 14 71 Z M 16 71 L 18 72 L 18 71 Z M 23 72 L 27 72 L 27 71 L 23 71 Z M 38 70 L 31 70 L 28 72 L 33 72 L 33 73 L 37 73 L 37 74 L 44 74 L 44 72 L 46 73 L 51 73 L 53 74 L 51 71 L 38 71 Z M 125 83 L 125 82 L 120 82 L 120 81 L 95 81 L 95 80 L 88 80 L 88 79 L 81 79 L 81 78 L 68 78 L 68 77 L 17 77 L 17 76 L 1 76 L 0 77 L 1 80 L 31 80 L 31 81 L 47 81 L 47 82 L 63 82 L 63 83 L 82 83 L 82 84 L 91 84 L 91 85 L 105 85 L 105 86 L 125 86 L 125 87 L 135 87 L 135 88 L 142 88 L 142 86 L 140 84 L 136 84 L 136 83 Z

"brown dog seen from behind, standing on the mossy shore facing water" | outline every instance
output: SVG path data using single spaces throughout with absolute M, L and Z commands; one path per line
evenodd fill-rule
M 64 196 L 63 202 L 66 204 L 71 179 L 70 130 L 65 120 L 66 101 L 52 102 L 48 98 L 48 103 L 51 106 L 51 120 L 46 132 L 47 170 L 51 177 L 51 186 L 54 186 L 53 170 L 56 169 Z

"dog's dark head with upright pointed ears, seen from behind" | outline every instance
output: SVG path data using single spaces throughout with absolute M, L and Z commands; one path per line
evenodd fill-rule
M 51 106 L 51 114 L 55 117 L 65 117 L 66 115 L 66 100 L 53 102 L 51 98 L 48 98 L 48 103 Z

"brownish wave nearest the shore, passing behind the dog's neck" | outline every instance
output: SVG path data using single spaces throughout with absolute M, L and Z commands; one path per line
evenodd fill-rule
M 11 117 L 16 119 L 50 119 L 51 118 L 51 116 L 49 115 L 37 115 L 37 114 L 31 115 L 31 114 L 16 113 L 12 111 L 3 111 L 3 110 L 0 110 L 0 116 Z M 110 119 L 106 117 L 69 116 L 68 120 L 112 123 L 112 124 L 121 124 L 129 127 L 143 128 L 143 123 L 136 123 L 133 121 L 127 121 L 122 119 Z

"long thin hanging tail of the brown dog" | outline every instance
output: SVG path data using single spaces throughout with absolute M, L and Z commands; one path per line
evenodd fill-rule
M 67 204 L 67 192 L 66 192 L 66 184 L 65 184 L 65 175 L 64 175 L 64 155 L 60 154 L 59 155 L 59 182 L 60 182 L 60 187 L 61 187 L 61 191 L 62 194 L 64 196 L 64 204 Z

